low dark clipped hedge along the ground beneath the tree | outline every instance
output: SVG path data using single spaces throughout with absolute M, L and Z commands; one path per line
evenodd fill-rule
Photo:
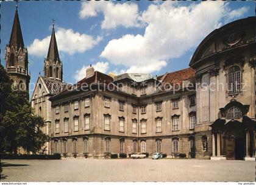
M 60 153 L 54 153 L 54 155 L 14 155 L 14 154 L 1 154 L 1 159 L 61 159 Z

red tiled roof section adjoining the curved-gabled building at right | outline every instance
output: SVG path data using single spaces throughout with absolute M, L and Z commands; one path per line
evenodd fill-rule
M 194 77 L 195 70 L 192 68 L 182 69 L 180 71 L 169 72 L 165 75 L 163 79 L 163 83 L 170 83 L 170 84 L 181 84 L 183 81 L 191 79 Z

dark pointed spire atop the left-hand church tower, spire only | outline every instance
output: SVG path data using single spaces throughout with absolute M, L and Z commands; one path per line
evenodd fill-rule
M 18 47 L 24 46 L 17 4 L 16 4 L 16 11 L 15 11 L 14 21 L 13 21 L 13 26 L 12 26 L 12 33 L 10 36 L 9 44 L 16 45 Z

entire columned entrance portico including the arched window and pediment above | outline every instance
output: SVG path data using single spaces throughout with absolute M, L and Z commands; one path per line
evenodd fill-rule
M 222 118 L 212 127 L 213 160 L 255 160 L 256 122 L 246 114 L 248 105 L 232 100 L 220 108 Z

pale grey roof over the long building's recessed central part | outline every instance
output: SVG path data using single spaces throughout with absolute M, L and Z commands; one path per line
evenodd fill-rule
M 114 82 L 123 80 L 123 79 L 130 79 L 135 82 L 143 82 L 149 79 L 155 79 L 151 74 L 143 74 L 143 73 L 124 73 L 121 75 L 117 75 L 114 77 Z

